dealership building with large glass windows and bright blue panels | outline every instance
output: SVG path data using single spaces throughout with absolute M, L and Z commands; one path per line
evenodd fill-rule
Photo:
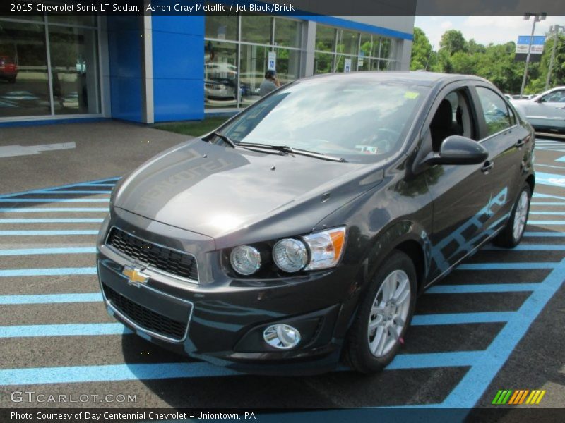
M 331 72 L 408 70 L 414 16 L 1 16 L 0 126 L 189 121 Z M 17 69 L 17 73 L 14 73 Z

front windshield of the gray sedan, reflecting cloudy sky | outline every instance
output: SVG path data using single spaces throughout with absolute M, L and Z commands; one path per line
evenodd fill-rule
M 354 78 L 297 82 L 249 107 L 220 130 L 234 143 L 370 163 L 401 147 L 428 87 Z

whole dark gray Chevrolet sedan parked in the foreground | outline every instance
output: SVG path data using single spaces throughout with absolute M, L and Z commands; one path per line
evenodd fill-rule
M 299 80 L 114 189 L 97 268 L 138 335 L 245 372 L 391 362 L 417 294 L 522 238 L 533 130 L 486 80 Z M 408 336 L 408 341 L 410 342 Z

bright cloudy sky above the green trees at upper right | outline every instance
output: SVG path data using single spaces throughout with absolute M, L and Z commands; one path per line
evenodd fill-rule
M 416 16 L 414 26 L 427 35 L 434 50 L 439 49 L 441 35 L 447 30 L 459 30 L 463 37 L 474 38 L 480 44 L 516 42 L 518 35 L 530 35 L 532 20 L 523 16 Z M 552 25 L 565 25 L 565 16 L 547 16 L 535 24 L 534 35 L 545 35 Z

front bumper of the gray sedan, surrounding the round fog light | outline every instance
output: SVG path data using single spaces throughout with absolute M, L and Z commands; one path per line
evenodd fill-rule
M 352 284 L 347 268 L 276 281 L 237 280 L 222 271 L 211 238 L 114 210 L 97 245 L 100 288 L 109 314 L 139 336 L 177 353 L 257 374 L 314 374 L 338 364 L 352 312 L 344 307 Z M 112 226 L 193 253 L 200 283 L 150 267 L 143 269 L 146 283 L 131 283 L 122 273 L 124 266 L 140 264 L 105 244 Z M 263 341 L 263 330 L 273 323 L 299 329 L 297 348 L 277 350 Z

